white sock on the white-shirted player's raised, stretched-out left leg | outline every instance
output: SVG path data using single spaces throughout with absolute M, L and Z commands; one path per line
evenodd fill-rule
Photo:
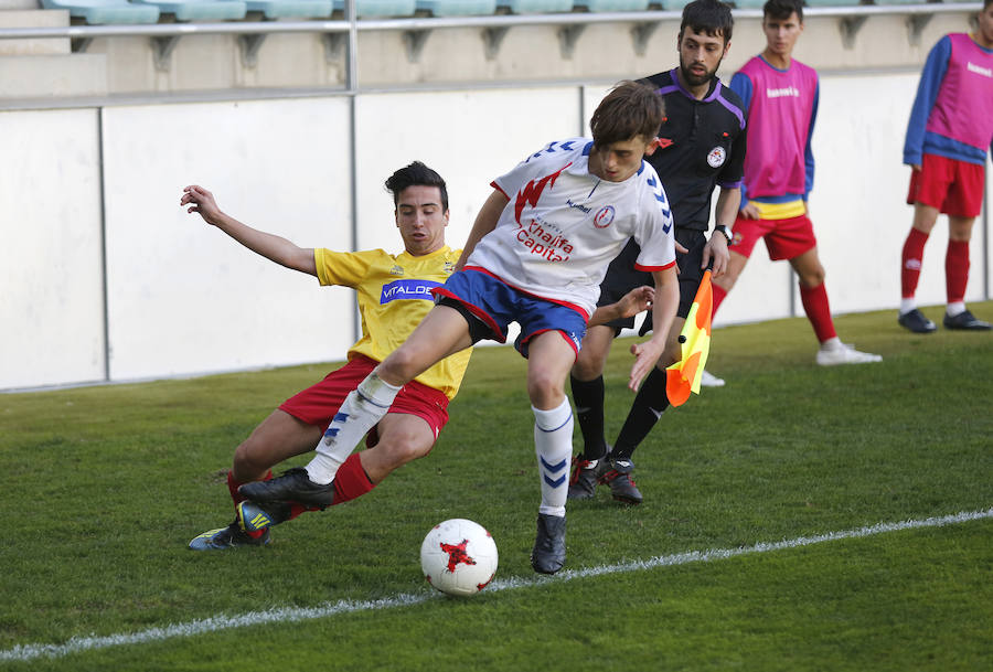
M 338 468 L 366 433 L 383 419 L 399 391 L 401 387 L 381 380 L 373 371 L 349 393 L 314 448 L 317 455 L 307 465 L 311 481 L 327 486 L 334 480 Z

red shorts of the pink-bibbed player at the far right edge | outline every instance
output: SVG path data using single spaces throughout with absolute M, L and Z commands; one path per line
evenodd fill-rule
M 985 166 L 925 154 L 920 170 L 910 172 L 907 203 L 930 205 L 953 217 L 978 217 L 985 181 Z

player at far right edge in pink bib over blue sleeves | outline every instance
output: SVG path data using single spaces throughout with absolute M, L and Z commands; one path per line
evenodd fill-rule
M 900 257 L 898 322 L 915 333 L 930 333 L 935 322 L 917 308 L 925 244 L 948 215 L 944 282 L 947 329 L 989 330 L 965 308 L 969 241 L 982 211 L 986 150 L 993 148 L 993 0 L 985 0 L 972 34 L 944 35 L 931 49 L 920 75 L 907 125 L 904 163 L 910 166 L 907 203 L 914 223 Z

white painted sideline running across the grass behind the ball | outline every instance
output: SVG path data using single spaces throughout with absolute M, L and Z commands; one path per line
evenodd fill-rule
M 686 565 L 690 563 L 708 563 L 717 559 L 726 559 L 737 557 L 739 555 L 751 555 L 754 553 L 769 553 L 771 551 L 783 551 L 787 548 L 799 548 L 801 546 L 811 546 L 824 542 L 833 542 L 847 538 L 859 538 L 884 534 L 887 532 L 900 532 L 904 530 L 915 530 L 919 527 L 940 527 L 943 525 L 954 525 L 975 521 L 981 519 L 993 518 L 993 509 L 985 511 L 960 512 L 951 515 L 942 515 L 938 518 L 926 518 L 923 520 L 903 521 L 899 523 L 877 523 L 867 527 L 858 527 L 856 530 L 845 530 L 842 532 L 828 532 L 816 536 L 801 536 L 792 540 L 783 540 L 781 542 L 760 542 L 754 546 L 744 546 L 740 548 L 717 548 L 711 551 L 690 551 L 686 553 L 676 553 L 674 555 L 661 555 L 645 561 L 632 561 L 628 563 L 619 563 L 615 565 L 605 565 L 600 567 L 589 567 L 587 569 L 568 569 L 556 574 L 555 576 L 542 576 L 532 578 L 514 577 L 509 579 L 499 579 L 490 584 L 487 588 L 488 593 L 494 590 L 512 590 L 517 588 L 530 588 L 552 582 L 568 582 L 575 578 L 585 578 L 587 576 L 602 576 L 605 574 L 619 574 L 626 572 L 638 572 L 641 569 L 652 569 L 654 567 L 672 567 L 675 565 Z M 268 609 L 266 611 L 249 611 L 239 616 L 215 616 L 202 620 L 194 620 L 186 623 L 173 623 L 161 628 L 149 628 L 141 632 L 109 634 L 106 637 L 73 637 L 64 644 L 19 644 L 13 649 L 0 651 L 0 661 L 29 661 L 36 658 L 61 658 L 70 653 L 78 653 L 83 651 L 93 651 L 96 649 L 107 649 L 110 647 L 120 647 L 126 644 L 141 644 L 147 642 L 162 641 L 178 637 L 194 637 L 207 632 L 216 632 L 218 630 L 228 630 L 231 628 L 243 628 L 246 626 L 261 626 L 266 623 L 286 623 L 302 620 L 311 620 L 316 618 L 327 618 L 339 614 L 352 614 L 355 611 L 369 611 L 375 609 L 392 609 L 394 607 L 408 607 L 419 605 L 429 599 L 438 599 L 441 596 L 437 593 L 416 593 L 397 595 L 376 600 L 351 601 L 341 600 L 338 602 L 329 602 L 317 607 L 301 608 L 280 608 Z

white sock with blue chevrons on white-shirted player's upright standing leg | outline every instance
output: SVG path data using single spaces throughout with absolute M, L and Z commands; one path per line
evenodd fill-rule
M 534 451 L 538 460 L 542 505 L 538 513 L 565 515 L 569 493 L 569 458 L 573 457 L 573 408 L 563 399 L 557 408 L 534 412 Z

